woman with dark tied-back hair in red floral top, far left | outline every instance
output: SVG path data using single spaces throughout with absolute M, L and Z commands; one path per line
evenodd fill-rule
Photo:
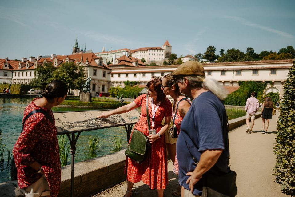
M 24 118 L 34 110 L 43 113 L 31 115 L 12 150 L 17 167 L 18 186 L 26 196 L 58 195 L 61 183 L 57 129 L 51 108 L 64 101 L 68 88 L 61 80 L 53 80 L 25 109 Z M 51 122 L 53 121 L 53 122 Z

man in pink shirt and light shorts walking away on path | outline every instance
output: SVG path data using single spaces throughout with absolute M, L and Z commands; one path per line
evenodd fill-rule
M 256 94 L 255 92 L 251 93 L 251 97 L 247 99 L 246 101 L 246 125 L 247 130 L 246 133 L 251 133 L 253 126 L 254 126 L 254 120 L 255 120 L 255 114 L 257 110 L 259 109 L 259 101 L 257 98 L 255 98 Z M 249 127 L 249 120 L 251 119 L 251 127 Z

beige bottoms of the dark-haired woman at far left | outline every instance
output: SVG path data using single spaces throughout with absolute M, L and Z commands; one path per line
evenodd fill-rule
M 26 197 L 38 197 L 49 195 L 50 188 L 44 175 L 38 181 L 25 188 Z

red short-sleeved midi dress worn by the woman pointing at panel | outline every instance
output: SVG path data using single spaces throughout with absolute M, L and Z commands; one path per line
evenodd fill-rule
M 142 106 L 141 115 L 136 125 L 136 129 L 146 136 L 149 135 L 149 128 L 147 124 L 146 115 L 146 94 L 137 97 L 134 102 L 136 105 Z M 152 124 L 152 107 L 149 106 L 149 119 Z M 155 113 L 154 129 L 158 133 L 162 128 L 162 120 L 164 117 L 169 117 L 172 114 L 171 102 L 165 98 L 161 102 Z M 132 134 L 131 134 L 132 135 Z M 130 138 L 131 139 L 131 138 Z M 144 162 L 138 164 L 127 157 L 127 180 L 132 183 L 142 181 L 147 184 L 151 189 L 165 189 L 168 184 L 168 168 L 167 168 L 167 152 L 165 135 L 157 139 L 151 144 L 150 152 Z

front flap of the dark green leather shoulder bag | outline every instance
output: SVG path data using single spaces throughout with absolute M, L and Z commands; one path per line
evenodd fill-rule
M 134 129 L 129 143 L 129 150 L 139 155 L 144 155 L 148 140 L 149 139 L 142 132 Z

